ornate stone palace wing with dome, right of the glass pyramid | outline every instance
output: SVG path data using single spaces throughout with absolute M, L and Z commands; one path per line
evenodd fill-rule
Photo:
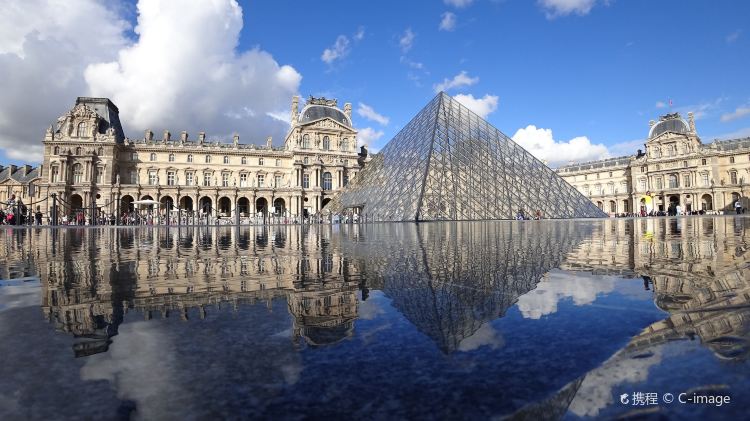
M 557 173 L 610 215 L 750 207 L 750 138 L 703 144 L 678 113 L 650 122 L 645 153 L 561 167 Z

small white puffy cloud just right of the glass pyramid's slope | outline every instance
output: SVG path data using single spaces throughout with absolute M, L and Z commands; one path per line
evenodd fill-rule
M 568 162 L 583 162 L 610 156 L 603 144 L 593 144 L 586 136 L 569 141 L 556 141 L 551 129 L 537 128 L 530 124 L 518 129 L 513 140 L 547 165 L 554 167 Z

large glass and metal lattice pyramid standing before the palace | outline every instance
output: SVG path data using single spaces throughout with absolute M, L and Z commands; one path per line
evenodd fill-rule
M 554 171 L 441 92 L 331 203 L 372 221 L 605 217 Z

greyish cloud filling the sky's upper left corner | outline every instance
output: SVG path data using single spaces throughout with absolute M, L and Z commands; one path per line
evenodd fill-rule
M 83 71 L 111 60 L 129 24 L 102 2 L 4 2 L 0 13 L 0 149 L 10 159 L 42 160 L 44 130 L 86 94 Z

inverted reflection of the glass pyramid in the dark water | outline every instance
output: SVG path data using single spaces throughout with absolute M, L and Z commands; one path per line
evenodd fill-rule
M 366 231 L 378 237 L 355 250 L 367 262 L 370 286 L 383 290 L 420 331 L 452 352 L 533 290 L 589 227 L 576 222 L 398 224 Z

